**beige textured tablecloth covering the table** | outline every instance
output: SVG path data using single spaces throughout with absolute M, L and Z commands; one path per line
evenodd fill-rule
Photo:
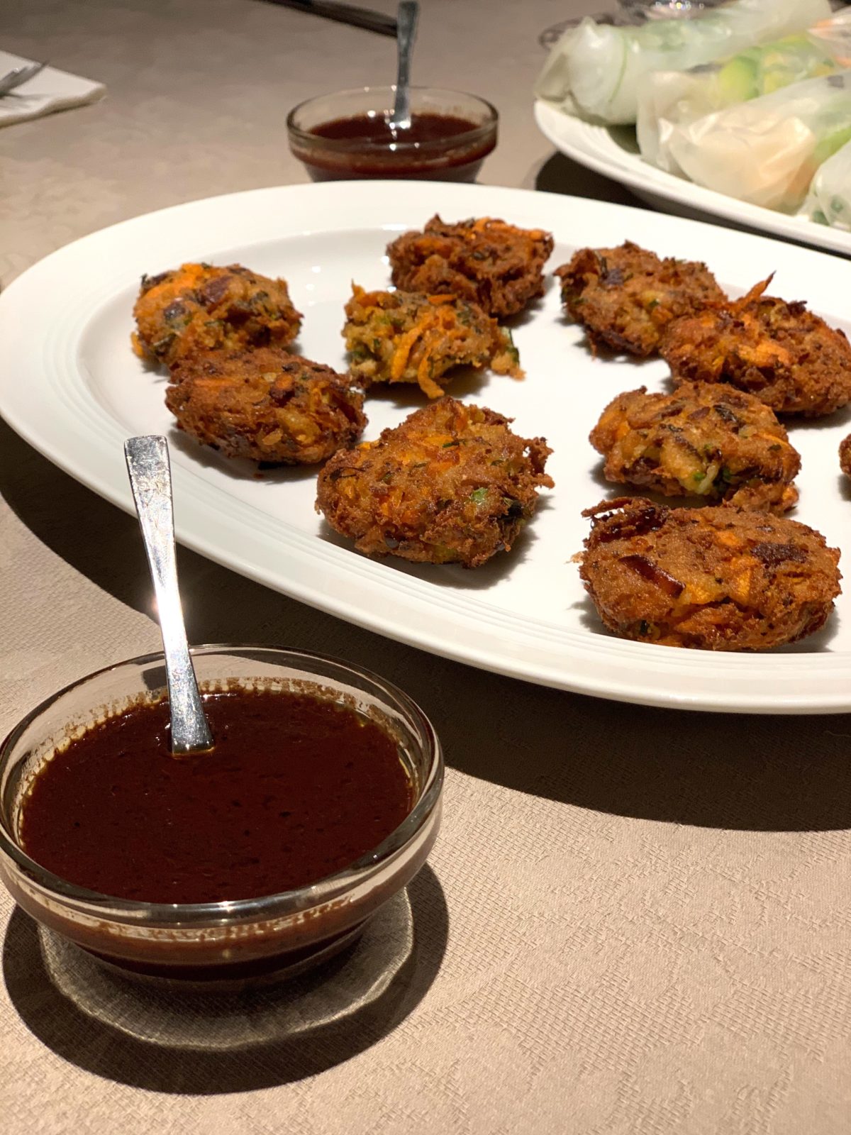
M 502 115 L 482 180 L 631 200 L 553 159 L 531 120 L 538 32 L 581 10 L 424 0 L 415 78 Z M 7 16 L 5 49 L 109 93 L 3 131 L 6 281 L 134 213 L 302 180 L 287 108 L 394 68 L 390 40 L 248 0 Z M 158 631 L 134 523 L 0 431 L 8 728 Z M 195 641 L 310 647 L 416 695 L 446 746 L 444 831 L 410 901 L 322 982 L 236 1006 L 110 983 L 0 897 L 5 1135 L 849 1129 L 851 720 L 573 697 L 179 558 Z

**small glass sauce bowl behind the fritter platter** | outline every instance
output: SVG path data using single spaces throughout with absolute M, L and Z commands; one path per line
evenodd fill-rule
M 287 116 L 289 149 L 314 182 L 361 178 L 413 178 L 427 182 L 474 182 L 482 161 L 497 143 L 496 108 L 461 91 L 411 87 L 411 115 L 440 115 L 472 123 L 469 131 L 424 142 L 326 138 L 315 127 L 338 119 L 389 118 L 395 86 L 361 86 L 300 102 Z

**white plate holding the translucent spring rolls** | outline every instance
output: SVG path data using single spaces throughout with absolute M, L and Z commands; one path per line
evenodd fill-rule
M 638 152 L 632 126 L 597 126 L 565 115 L 541 99 L 534 104 L 534 119 L 541 133 L 562 153 L 629 185 L 638 196 L 656 207 L 662 204 L 685 217 L 723 217 L 734 225 L 776 233 L 790 241 L 851 257 L 851 233 L 818 225 L 808 217 L 752 205 L 650 166 Z

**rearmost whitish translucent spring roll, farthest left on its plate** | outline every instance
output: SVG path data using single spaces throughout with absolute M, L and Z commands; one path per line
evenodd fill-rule
M 536 94 L 582 118 L 634 123 L 639 83 L 651 72 L 711 62 L 829 15 L 829 0 L 733 0 L 690 19 L 656 19 L 640 27 L 613 27 L 589 17 L 555 44 Z

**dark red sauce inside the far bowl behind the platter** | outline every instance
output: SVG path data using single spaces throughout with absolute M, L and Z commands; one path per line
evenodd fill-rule
M 401 133 L 390 129 L 384 115 L 354 115 L 312 126 L 301 138 L 290 137 L 293 153 L 314 182 L 472 180 L 495 145 L 495 123 L 482 126 L 470 118 L 428 112 L 414 112 L 410 128 Z

